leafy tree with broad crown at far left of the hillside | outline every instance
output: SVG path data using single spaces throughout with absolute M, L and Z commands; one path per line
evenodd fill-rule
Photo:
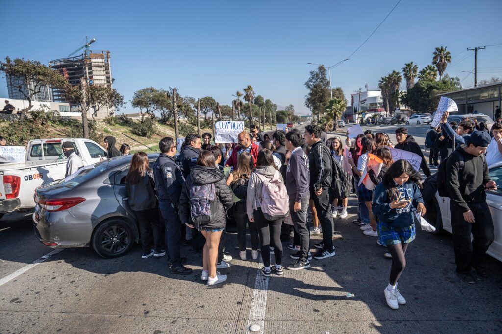
M 64 88 L 68 82 L 58 72 L 38 61 L 6 57 L 0 61 L 0 73 L 4 73 L 12 87 L 16 87 L 28 101 L 28 106 L 21 109 L 20 121 L 25 118 L 26 112 L 32 107 L 32 100 L 39 94 L 44 86 Z

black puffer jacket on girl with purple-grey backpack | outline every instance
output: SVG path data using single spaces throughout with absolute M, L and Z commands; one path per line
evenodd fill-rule
M 190 219 L 190 188 L 192 184 L 212 184 L 214 183 L 216 197 L 218 199 L 218 212 L 216 218 L 202 228 L 225 228 L 226 226 L 226 211 L 228 211 L 233 204 L 232 191 L 226 185 L 223 173 L 215 167 L 195 166 L 190 171 L 180 198 L 180 219 L 183 224 L 192 223 Z

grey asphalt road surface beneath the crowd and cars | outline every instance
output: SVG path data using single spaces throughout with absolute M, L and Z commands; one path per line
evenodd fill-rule
M 427 126 L 415 127 L 425 136 Z M 283 276 L 257 275 L 262 264 L 238 259 L 228 233 L 234 260 L 220 270 L 228 281 L 214 287 L 200 281 L 202 258 L 188 247 L 189 276 L 171 274 L 166 258 L 141 259 L 139 245 L 117 259 L 65 249 L 33 265 L 51 249 L 36 239 L 31 217 L 8 214 L 0 222 L 0 333 L 245 333 L 249 324 L 265 333 L 500 332 L 502 264 L 487 256 L 490 277 L 461 282 L 449 234 L 417 231 L 399 282 L 408 303 L 390 309 L 383 290 L 391 260 L 351 223 L 355 204 L 351 197 L 349 217 L 335 220 L 336 256 Z

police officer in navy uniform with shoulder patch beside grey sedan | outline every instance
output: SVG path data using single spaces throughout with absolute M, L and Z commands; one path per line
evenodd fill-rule
M 200 139 L 199 139 L 200 145 Z M 166 247 L 171 261 L 171 271 L 176 274 L 192 273 L 181 263 L 181 220 L 178 214 L 181 188 L 185 178 L 176 164 L 176 145 L 173 138 L 163 138 L 159 143 L 162 152 L 154 165 L 155 186 L 159 196 L 159 209 L 166 224 Z

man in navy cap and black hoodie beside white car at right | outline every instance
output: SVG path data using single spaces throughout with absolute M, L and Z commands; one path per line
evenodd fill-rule
M 446 188 L 457 273 L 464 282 L 473 284 L 476 278 L 471 268 L 481 277 L 488 276 L 483 258 L 494 233 L 485 190 L 496 189 L 496 185 L 490 180 L 484 157 L 490 136 L 484 131 L 473 131 L 463 139 L 465 144 L 459 145 L 446 161 Z

